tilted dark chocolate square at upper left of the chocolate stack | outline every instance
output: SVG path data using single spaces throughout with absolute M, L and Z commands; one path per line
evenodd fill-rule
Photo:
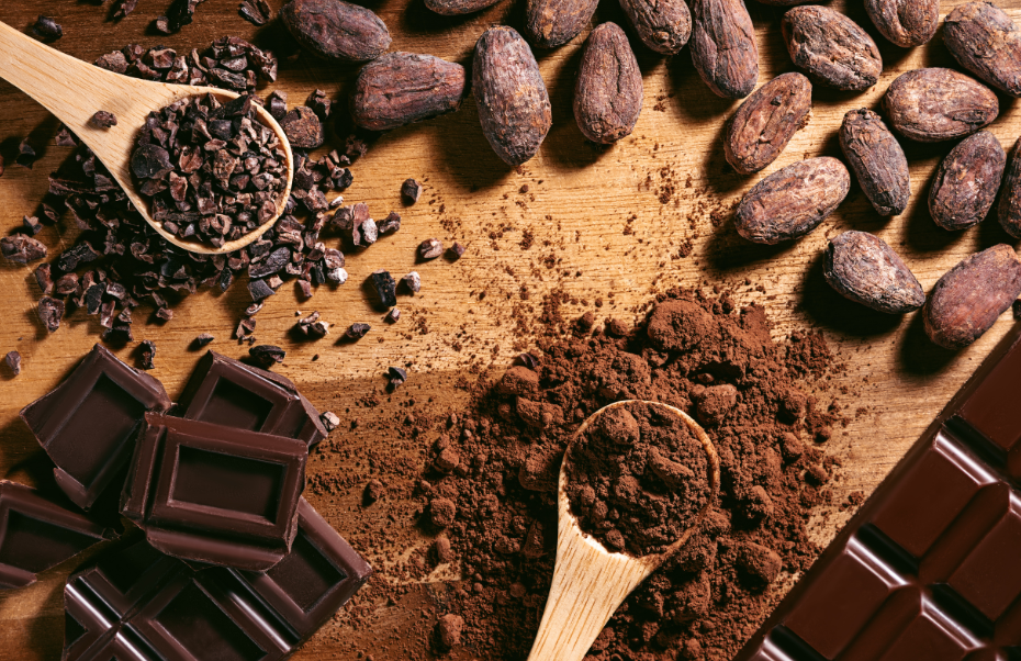
M 56 390 L 22 408 L 21 417 L 57 464 L 57 484 L 88 509 L 120 477 L 145 413 L 169 408 L 159 381 L 96 345 Z

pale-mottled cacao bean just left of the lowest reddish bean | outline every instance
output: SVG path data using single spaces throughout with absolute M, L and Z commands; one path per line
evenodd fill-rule
M 867 232 L 844 232 L 826 247 L 822 273 L 837 292 L 887 314 L 904 314 L 925 303 L 915 273 L 893 248 Z

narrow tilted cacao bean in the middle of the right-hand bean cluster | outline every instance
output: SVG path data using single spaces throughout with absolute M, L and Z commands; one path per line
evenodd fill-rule
M 879 215 L 897 215 L 907 208 L 908 158 L 879 115 L 864 108 L 849 111 L 840 126 L 840 147 Z

